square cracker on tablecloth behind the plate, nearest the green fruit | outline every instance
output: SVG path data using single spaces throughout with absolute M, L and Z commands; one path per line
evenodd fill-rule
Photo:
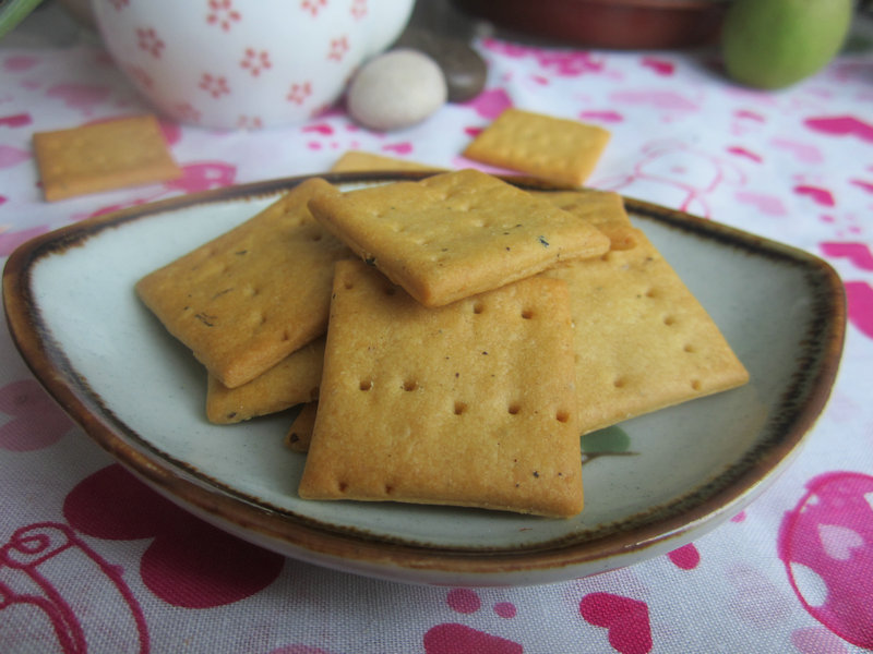
M 511 108 L 467 145 L 464 156 L 578 186 L 594 171 L 609 137 L 597 125 Z

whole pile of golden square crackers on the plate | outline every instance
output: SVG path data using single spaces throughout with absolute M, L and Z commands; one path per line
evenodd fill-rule
M 570 517 L 579 436 L 748 373 L 620 196 L 314 178 L 136 291 L 235 423 L 306 403 L 299 495 Z

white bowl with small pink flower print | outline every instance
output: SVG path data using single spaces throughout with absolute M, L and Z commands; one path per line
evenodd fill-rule
M 304 121 L 399 35 L 414 0 L 92 0 L 118 66 L 164 114 L 218 129 Z

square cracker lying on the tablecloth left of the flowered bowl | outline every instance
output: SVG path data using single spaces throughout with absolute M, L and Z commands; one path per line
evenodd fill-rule
M 43 194 L 49 202 L 181 175 L 153 116 L 34 134 Z

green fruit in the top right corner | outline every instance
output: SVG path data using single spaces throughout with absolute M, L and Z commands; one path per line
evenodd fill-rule
M 852 0 L 734 0 L 721 32 L 728 74 L 781 88 L 824 68 L 849 31 Z

